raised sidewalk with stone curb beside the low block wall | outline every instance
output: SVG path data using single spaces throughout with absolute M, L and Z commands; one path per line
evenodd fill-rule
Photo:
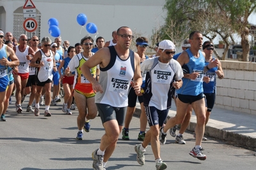
M 140 117 L 140 112 L 140 104 L 137 103 L 134 114 Z M 174 117 L 175 114 L 176 106 L 172 104 L 168 115 Z M 193 113 L 187 130 L 194 132 L 195 125 L 196 116 Z M 222 139 L 231 145 L 256 149 L 256 115 L 214 107 L 205 127 L 205 135 Z

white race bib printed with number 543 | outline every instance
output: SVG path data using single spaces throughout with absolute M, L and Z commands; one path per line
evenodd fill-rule
M 172 81 L 172 72 L 155 70 L 152 74 L 153 83 L 170 84 Z

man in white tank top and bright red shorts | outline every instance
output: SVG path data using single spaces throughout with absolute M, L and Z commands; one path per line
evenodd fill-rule
M 13 46 L 13 50 L 19 59 L 19 73 L 14 74 L 14 80 L 16 85 L 16 111 L 22 113 L 21 98 L 24 95 L 24 89 L 26 87 L 29 77 L 29 61 L 34 57 L 34 50 L 27 45 L 28 36 L 21 34 L 19 38 L 19 45 Z

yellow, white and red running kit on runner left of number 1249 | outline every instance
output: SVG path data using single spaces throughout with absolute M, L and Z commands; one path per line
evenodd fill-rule
M 75 74 L 75 78 L 74 78 L 74 89 L 79 90 L 81 92 L 84 93 L 93 93 L 93 89 L 92 89 L 92 83 L 90 83 L 90 81 L 88 81 L 82 71 L 81 71 L 81 66 L 84 64 L 84 62 L 86 62 L 85 57 L 83 57 L 83 53 L 79 53 L 76 56 L 78 60 L 79 60 L 79 66 L 76 67 L 76 74 Z M 95 78 L 96 77 L 96 69 L 97 67 L 92 67 L 90 69 L 92 76 Z

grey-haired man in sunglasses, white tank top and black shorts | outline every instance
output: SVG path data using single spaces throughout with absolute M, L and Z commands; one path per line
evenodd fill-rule
M 45 117 L 51 117 L 51 87 L 52 87 L 52 71 L 57 71 L 54 55 L 50 50 L 51 39 L 49 37 L 42 38 L 43 49 L 35 53 L 35 57 L 31 60 L 30 65 L 36 67 L 36 94 L 35 94 L 35 116 L 39 116 L 39 101 L 43 87 L 45 88 Z

